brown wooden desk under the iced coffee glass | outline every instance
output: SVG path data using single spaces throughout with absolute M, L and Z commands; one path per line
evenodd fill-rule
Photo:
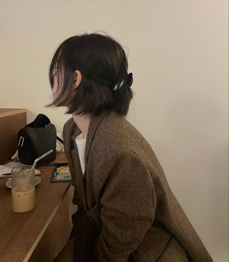
M 57 153 L 53 162 L 67 162 Z M 35 208 L 25 213 L 11 209 L 11 189 L 0 179 L 0 261 L 49 262 L 55 257 L 69 222 L 70 182 L 51 183 L 54 167 L 36 168 Z

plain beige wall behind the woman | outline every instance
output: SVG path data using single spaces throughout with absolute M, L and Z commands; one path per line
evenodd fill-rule
M 129 49 L 128 119 L 157 155 L 215 262 L 228 261 L 228 1 L 0 1 L 0 107 L 46 109 L 64 39 L 106 31 Z M 128 53 L 128 50 L 126 50 Z

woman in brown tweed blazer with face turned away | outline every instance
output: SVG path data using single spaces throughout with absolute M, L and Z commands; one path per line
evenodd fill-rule
M 50 64 L 53 104 L 72 114 L 63 141 L 78 205 L 74 261 L 213 261 L 151 146 L 124 118 L 127 69 L 118 41 L 97 33 L 63 41 Z

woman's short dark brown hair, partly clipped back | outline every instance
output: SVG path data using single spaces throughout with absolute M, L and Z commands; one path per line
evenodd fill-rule
M 56 71 L 57 76 L 63 76 L 60 84 L 57 77 L 58 88 L 62 80 L 63 88 L 58 98 L 46 107 L 54 106 L 54 103 L 68 97 L 74 72 L 79 70 L 82 80 L 68 104 L 66 114 L 100 114 L 103 109 L 108 109 L 127 115 L 133 90 L 128 85 L 118 91 L 112 90 L 117 83 L 122 61 L 128 69 L 127 57 L 117 40 L 106 33 L 102 35 L 96 32 L 69 37 L 59 45 L 49 65 L 49 82 L 53 88 L 53 75 Z

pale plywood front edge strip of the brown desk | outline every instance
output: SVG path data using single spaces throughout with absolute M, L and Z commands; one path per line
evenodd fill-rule
M 27 253 L 26 257 L 24 258 L 24 260 L 22 262 L 27 262 L 30 258 L 30 256 L 32 255 L 33 251 L 35 250 L 38 242 L 40 241 L 41 237 L 43 236 L 45 230 L 47 229 L 47 227 L 49 226 L 49 223 L 51 222 L 51 220 L 53 219 L 55 213 L 57 212 L 58 207 L 60 206 L 60 203 L 63 201 L 66 193 L 68 192 L 70 186 L 71 186 L 71 182 L 68 182 L 68 187 L 66 188 L 65 192 L 63 193 L 62 198 L 60 199 L 60 201 L 58 202 L 58 204 L 56 205 L 56 207 L 54 208 L 52 214 L 50 215 L 49 219 L 47 220 L 47 222 L 45 223 L 43 229 L 40 231 L 40 234 L 38 235 L 37 239 L 34 241 L 33 245 L 31 246 L 29 252 Z

